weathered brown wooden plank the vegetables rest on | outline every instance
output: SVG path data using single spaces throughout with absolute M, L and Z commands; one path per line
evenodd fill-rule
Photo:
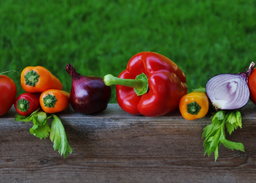
M 187 121 L 179 111 L 133 116 L 117 104 L 94 115 L 71 108 L 57 114 L 73 153 L 54 151 L 49 137 L 30 134 L 32 123 L 14 121 L 15 109 L 0 116 L 1 182 L 255 182 L 256 105 L 241 110 L 243 128 L 227 139 L 245 153 L 221 146 L 219 157 L 204 156 L 202 129 L 210 114 Z M 50 122 L 51 123 L 51 122 Z M 49 123 L 49 124 L 50 124 Z

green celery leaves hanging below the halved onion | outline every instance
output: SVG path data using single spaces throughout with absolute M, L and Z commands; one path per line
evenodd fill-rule
M 231 134 L 238 127 L 242 128 L 241 113 L 239 111 L 220 110 L 211 116 L 211 124 L 203 130 L 202 138 L 205 138 L 205 155 L 214 152 L 215 161 L 218 158 L 218 149 L 221 144 L 231 150 L 241 150 L 244 152 L 243 143 L 228 141 L 225 138 L 225 127 Z

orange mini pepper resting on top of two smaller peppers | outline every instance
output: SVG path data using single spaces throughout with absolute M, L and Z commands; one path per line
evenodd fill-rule
M 47 89 L 63 89 L 61 81 L 41 66 L 23 69 L 20 81 L 22 88 L 29 93 L 44 92 Z

